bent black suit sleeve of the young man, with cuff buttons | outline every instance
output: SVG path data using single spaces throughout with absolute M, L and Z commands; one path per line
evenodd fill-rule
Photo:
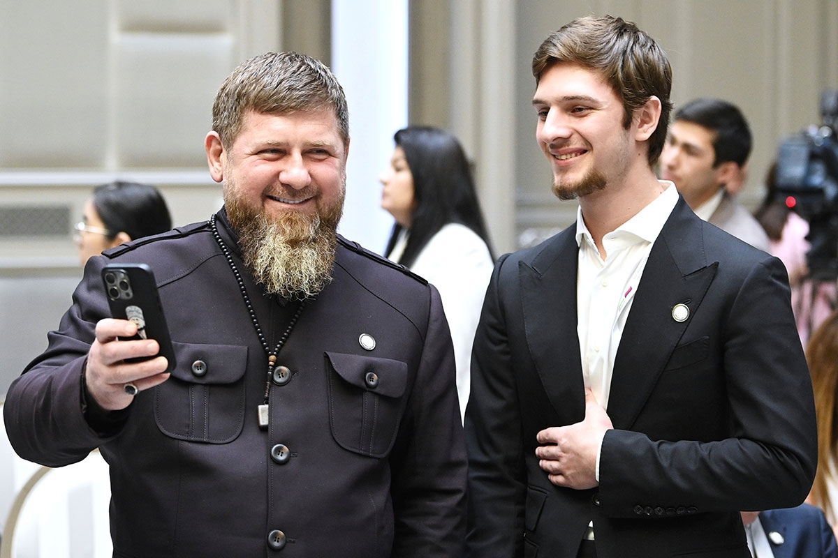
M 696 364 L 706 369 L 695 371 L 723 375 L 727 400 L 708 401 L 706 408 L 716 413 L 714 417 L 727 417 L 726 433 L 704 441 L 670 441 L 641 432 L 608 431 L 600 457 L 604 513 L 654 518 L 666 517 L 669 510 L 696 514 L 786 508 L 800 504 L 808 494 L 817 455 L 815 408 L 789 305 L 787 275 L 773 258 L 754 264 L 743 275 L 738 282 L 727 278 L 727 284 L 711 285 L 731 294 L 710 303 L 706 297 L 702 305 L 711 308 L 696 311 L 722 316 L 696 333 L 718 336 L 717 342 L 710 342 L 721 355 L 706 357 L 708 364 Z M 729 300 L 729 308 L 720 308 L 720 300 Z M 683 369 L 664 373 L 685 374 Z M 703 396 L 692 392 L 686 397 Z

